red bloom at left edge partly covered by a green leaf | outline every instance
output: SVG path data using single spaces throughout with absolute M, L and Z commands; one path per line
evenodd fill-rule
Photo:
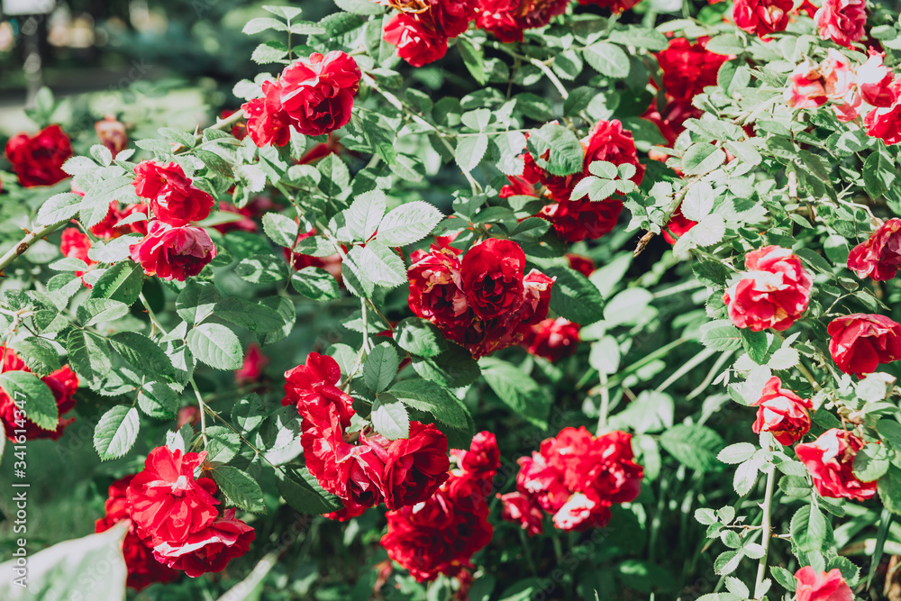
M 12 349 L 4 345 L 0 346 L 0 352 L 3 354 L 3 373 L 8 371 L 25 371 L 32 373 L 32 370 L 28 369 L 25 362 L 20 359 Z M 74 417 L 63 417 L 63 414 L 68 413 L 75 407 L 75 398 L 73 395 L 75 395 L 78 390 L 78 377 L 75 375 L 75 372 L 68 369 L 68 365 L 64 365 L 61 369 L 57 369 L 49 376 L 41 378 L 41 382 L 50 387 L 50 392 L 53 394 L 54 400 L 56 400 L 57 410 L 59 412 L 59 421 L 57 422 L 56 428 L 53 430 L 44 430 L 37 423 L 33 423 L 31 420 L 27 419 L 27 417 L 24 420 L 24 425 L 22 425 L 22 421 L 18 419 L 22 417 L 22 415 L 19 413 L 19 408 L 15 405 L 15 401 L 21 401 L 21 399 L 16 399 L 13 396 L 6 394 L 6 391 L 3 388 L 0 388 L 0 422 L 3 423 L 6 438 L 10 441 L 16 442 L 16 430 L 24 430 L 25 438 L 29 441 L 35 441 L 41 438 L 59 441 L 59 437 L 62 436 L 66 426 L 75 421 Z M 27 399 L 25 400 L 27 403 Z M 28 414 L 27 404 L 23 405 L 23 409 L 25 414 Z M 16 423 L 17 421 L 19 423 Z

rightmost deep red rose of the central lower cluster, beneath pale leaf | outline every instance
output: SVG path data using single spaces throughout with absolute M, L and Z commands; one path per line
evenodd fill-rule
M 432 423 L 410 422 L 407 439 L 360 438 L 385 462 L 382 492 L 388 509 L 420 503 L 448 479 L 448 439 Z

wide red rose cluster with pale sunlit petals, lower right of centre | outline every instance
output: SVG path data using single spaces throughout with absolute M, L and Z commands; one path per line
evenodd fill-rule
M 519 465 L 516 492 L 498 498 L 504 519 L 530 534 L 542 533 L 542 510 L 560 530 L 604 527 L 612 505 L 638 496 L 644 473 L 633 461 L 632 434 L 592 436 L 584 426 L 564 428 Z

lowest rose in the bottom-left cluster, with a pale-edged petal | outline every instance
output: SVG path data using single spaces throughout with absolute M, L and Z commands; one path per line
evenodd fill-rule
M 203 530 L 191 533 L 179 545 L 162 542 L 153 548 L 153 556 L 170 568 L 183 569 L 191 578 L 207 572 L 221 572 L 226 564 L 250 549 L 256 533 L 228 509 Z

